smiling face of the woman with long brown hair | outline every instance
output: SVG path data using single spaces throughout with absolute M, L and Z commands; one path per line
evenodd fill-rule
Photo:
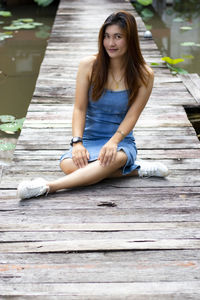
M 105 30 L 103 45 L 110 58 L 121 58 L 127 51 L 124 31 L 119 25 L 108 25 Z

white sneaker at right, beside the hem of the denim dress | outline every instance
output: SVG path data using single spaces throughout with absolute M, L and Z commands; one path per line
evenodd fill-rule
M 169 175 L 168 168 L 160 162 L 136 161 L 140 165 L 138 174 L 140 177 L 166 177 Z

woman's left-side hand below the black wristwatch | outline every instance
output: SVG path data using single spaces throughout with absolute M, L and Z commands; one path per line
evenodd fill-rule
M 81 143 L 73 145 L 72 160 L 78 168 L 87 166 L 89 160 L 89 152 Z

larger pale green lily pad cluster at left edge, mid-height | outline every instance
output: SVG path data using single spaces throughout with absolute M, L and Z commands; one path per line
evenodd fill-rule
M 3 124 L 0 125 L 0 130 L 8 134 L 14 134 L 22 129 L 24 120 L 25 118 L 15 119 L 12 115 L 2 115 L 0 121 Z

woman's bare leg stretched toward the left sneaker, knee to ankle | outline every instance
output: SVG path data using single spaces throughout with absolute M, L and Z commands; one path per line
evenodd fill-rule
M 53 182 L 47 183 L 50 192 L 55 192 L 62 189 L 70 189 L 79 186 L 87 186 L 95 184 L 104 178 L 108 178 L 116 170 L 125 165 L 127 156 L 123 151 L 117 152 L 116 159 L 109 166 L 102 167 L 99 160 L 91 162 L 84 168 L 75 170 Z

